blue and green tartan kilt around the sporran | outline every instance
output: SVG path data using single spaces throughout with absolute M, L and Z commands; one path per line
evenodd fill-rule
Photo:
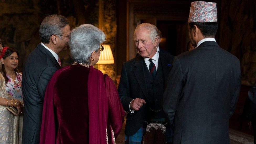
M 158 123 L 161 124 L 165 124 L 166 120 L 165 118 L 162 119 L 150 119 L 148 120 L 148 124 L 152 123 L 152 122 L 156 122 L 158 121 Z M 141 144 L 142 143 L 142 139 L 143 139 L 143 135 L 146 132 L 146 127 L 141 127 L 134 135 L 129 136 L 129 135 L 125 135 L 125 144 Z M 170 144 L 172 143 L 172 135 L 173 135 L 173 130 L 170 127 L 166 128 L 166 140 L 167 143 Z

